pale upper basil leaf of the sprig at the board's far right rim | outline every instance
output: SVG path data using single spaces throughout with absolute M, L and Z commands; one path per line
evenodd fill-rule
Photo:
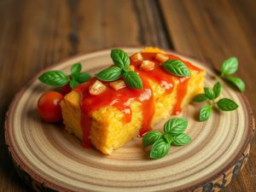
M 230 57 L 221 66 L 221 75 L 233 74 L 236 73 L 238 68 L 238 60 L 236 57 Z

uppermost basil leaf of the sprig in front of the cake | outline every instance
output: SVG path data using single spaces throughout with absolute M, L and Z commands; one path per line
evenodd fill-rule
M 188 119 L 173 118 L 169 119 L 164 125 L 164 131 L 172 136 L 183 133 L 188 126 Z

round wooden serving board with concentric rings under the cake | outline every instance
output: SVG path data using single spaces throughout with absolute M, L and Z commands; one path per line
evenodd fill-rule
M 125 49 L 129 55 L 138 50 Z M 68 134 L 63 125 L 48 124 L 38 117 L 38 97 L 51 88 L 40 83 L 37 76 L 15 96 L 6 119 L 6 143 L 20 177 L 37 191 L 223 189 L 247 161 L 253 140 L 253 113 L 245 96 L 222 79 L 213 78 L 215 74 L 209 67 L 179 56 L 206 70 L 207 87 L 219 81 L 224 87 L 219 97 L 233 99 L 239 108 L 231 112 L 214 110 L 210 119 L 199 122 L 201 104 L 190 104 L 179 116 L 189 119 L 186 132 L 192 142 L 172 147 L 160 160 L 148 158 L 139 137 L 108 156 L 95 148 L 82 148 L 79 139 Z M 75 56 L 46 71 L 56 69 L 69 73 L 72 64 L 77 62 L 82 63 L 83 71 L 93 75 L 112 63 L 110 49 Z

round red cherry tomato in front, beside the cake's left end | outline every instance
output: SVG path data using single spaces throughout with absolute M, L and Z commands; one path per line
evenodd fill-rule
M 49 123 L 59 122 L 62 119 L 60 102 L 63 95 L 57 91 L 45 92 L 38 99 L 38 113 Z

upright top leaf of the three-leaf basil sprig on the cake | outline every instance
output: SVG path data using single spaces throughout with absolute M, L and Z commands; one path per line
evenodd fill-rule
M 111 58 L 113 63 L 120 68 L 127 68 L 130 65 L 130 58 L 122 49 L 112 49 Z

